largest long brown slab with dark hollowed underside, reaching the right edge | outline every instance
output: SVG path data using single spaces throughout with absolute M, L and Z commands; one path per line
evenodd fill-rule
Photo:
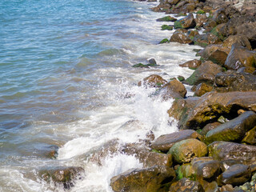
M 217 93 L 210 92 L 204 94 L 201 98 L 198 98 L 197 102 L 194 103 L 192 109 L 188 114 L 177 115 L 173 110 L 168 110 L 170 117 L 182 119 L 182 124 L 179 124 L 180 129 L 190 129 L 203 127 L 209 122 L 216 122 L 216 120 L 223 114 L 229 117 L 237 117 L 237 111 L 239 109 L 253 110 L 256 111 L 256 92 L 227 92 Z M 184 103 L 183 103 L 184 104 Z M 176 109 L 178 108 L 175 106 Z M 182 106 L 180 107 L 182 110 Z M 179 112 L 178 114 L 182 114 Z

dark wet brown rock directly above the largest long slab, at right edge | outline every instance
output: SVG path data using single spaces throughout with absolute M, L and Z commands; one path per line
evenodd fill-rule
M 256 77 L 254 74 L 227 71 L 215 76 L 215 90 L 226 91 L 251 91 L 256 90 Z

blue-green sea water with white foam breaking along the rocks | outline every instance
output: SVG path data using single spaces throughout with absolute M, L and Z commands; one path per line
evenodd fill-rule
M 172 100 L 138 87 L 150 74 L 166 80 L 193 72 L 196 58 L 178 43 L 161 44 L 150 11 L 157 2 L 130 0 L 0 1 L 0 191 L 64 191 L 38 177 L 52 166 L 82 166 L 66 191 L 112 191 L 110 178 L 142 167 L 133 156 L 90 156 L 106 142 L 138 142 L 177 130 L 166 113 Z M 158 66 L 134 68 L 155 58 Z M 190 90 L 190 87 L 187 87 Z M 188 93 L 192 93 L 189 91 Z M 117 140 L 118 139 L 118 140 Z M 57 159 L 46 154 L 57 150 Z

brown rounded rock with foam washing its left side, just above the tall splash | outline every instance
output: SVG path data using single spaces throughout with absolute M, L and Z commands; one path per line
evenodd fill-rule
M 160 95 L 164 100 L 169 98 L 185 98 L 186 88 L 177 79 L 167 82 L 156 95 Z

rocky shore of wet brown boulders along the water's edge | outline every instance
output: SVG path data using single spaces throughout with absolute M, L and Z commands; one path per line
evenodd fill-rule
M 118 191 L 250 191 L 256 189 L 256 2 L 253 0 L 166 0 L 152 9 L 165 12 L 162 30 L 175 30 L 160 43 L 202 46 L 200 60 L 181 63 L 194 73 L 170 82 L 157 74 L 138 82 L 154 87 L 154 96 L 174 99 L 167 113 L 179 131 L 120 146 L 111 140 L 94 150 L 88 161 L 102 164 L 110 154 L 134 155 L 143 169 L 111 178 Z M 168 14 L 183 16 L 177 20 Z M 154 67 L 138 63 L 134 67 Z M 192 86 L 186 97 L 184 86 Z M 170 122 L 171 123 L 171 122 Z M 54 152 L 51 152 L 54 156 Z M 54 157 L 53 156 L 53 157 Z M 65 188 L 83 178 L 81 167 L 41 170 L 47 181 Z

